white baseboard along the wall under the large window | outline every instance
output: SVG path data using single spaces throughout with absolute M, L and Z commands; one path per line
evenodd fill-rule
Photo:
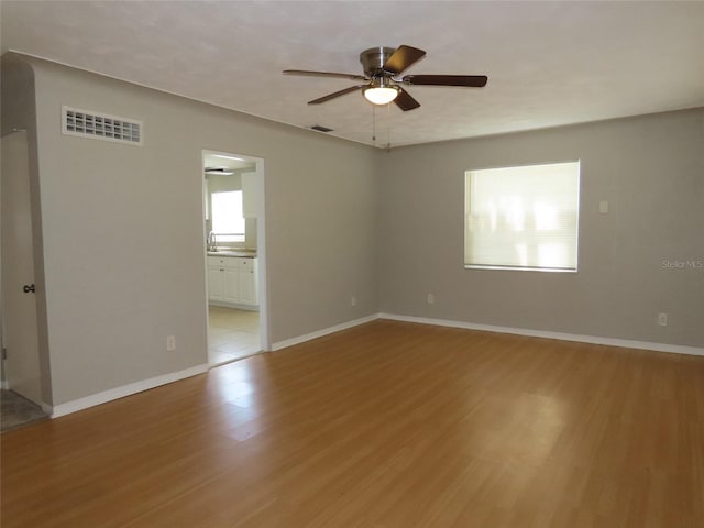
M 628 339 L 601 338 L 597 336 L 579 336 L 575 333 L 550 332 L 546 330 L 530 330 L 527 328 L 496 327 L 493 324 L 475 324 L 472 322 L 450 321 L 446 319 L 432 319 L 427 317 L 397 316 L 394 314 L 380 314 L 380 319 L 394 321 L 417 322 L 420 324 L 436 324 L 439 327 L 465 328 L 468 330 L 482 330 L 485 332 L 512 333 L 528 336 L 531 338 L 558 339 L 561 341 L 576 341 L 581 343 L 605 344 L 626 349 L 652 350 L 672 354 L 704 355 L 704 348 L 685 346 L 681 344 L 651 343 L 648 341 L 631 341 Z

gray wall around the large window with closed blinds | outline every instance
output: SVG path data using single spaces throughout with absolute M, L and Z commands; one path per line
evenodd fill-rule
M 464 270 L 465 169 L 578 158 L 579 273 Z M 704 345 L 704 268 L 662 267 L 704 260 L 703 109 L 395 148 L 380 187 L 383 312 Z

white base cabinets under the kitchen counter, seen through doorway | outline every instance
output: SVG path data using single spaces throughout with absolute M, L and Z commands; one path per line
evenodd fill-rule
M 251 308 L 257 305 L 257 260 L 208 256 L 208 300 L 213 305 Z

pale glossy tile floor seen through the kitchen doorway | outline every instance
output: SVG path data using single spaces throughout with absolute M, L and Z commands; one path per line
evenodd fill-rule
M 261 351 L 258 311 L 210 307 L 208 355 L 210 365 L 221 365 Z

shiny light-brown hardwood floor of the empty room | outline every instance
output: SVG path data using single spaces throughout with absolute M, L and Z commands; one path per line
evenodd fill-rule
M 375 321 L 2 435 L 2 527 L 704 526 L 704 358 Z

